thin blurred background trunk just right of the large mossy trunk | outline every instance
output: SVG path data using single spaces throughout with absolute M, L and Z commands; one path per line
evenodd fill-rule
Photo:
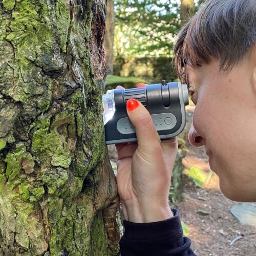
M 114 31 L 115 31 L 115 10 L 114 0 L 108 0 L 108 9 L 106 11 L 106 34 L 105 34 L 105 54 L 106 54 L 106 72 L 113 75 L 114 59 Z

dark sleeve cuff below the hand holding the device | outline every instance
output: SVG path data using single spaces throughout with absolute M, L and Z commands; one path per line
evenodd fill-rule
M 124 234 L 120 241 L 122 256 L 187 256 L 196 255 L 191 249 L 191 241 L 183 237 L 180 214 L 172 209 L 174 217 L 152 223 L 123 221 Z

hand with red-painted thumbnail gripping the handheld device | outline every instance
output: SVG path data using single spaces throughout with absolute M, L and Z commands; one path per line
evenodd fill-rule
M 127 113 L 137 142 L 116 145 L 117 186 L 124 218 L 136 223 L 172 218 L 168 195 L 177 139 L 161 141 L 150 113 L 139 101 L 127 101 Z

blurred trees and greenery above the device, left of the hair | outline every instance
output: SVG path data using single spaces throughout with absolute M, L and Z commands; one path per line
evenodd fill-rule
M 173 46 L 180 28 L 203 1 L 109 1 L 106 27 L 107 85 L 177 79 Z M 126 77 L 126 79 L 116 77 Z

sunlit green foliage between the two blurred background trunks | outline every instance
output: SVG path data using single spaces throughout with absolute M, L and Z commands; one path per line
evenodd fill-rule
M 117 55 L 172 56 L 180 29 L 178 1 L 117 0 L 115 6 Z

